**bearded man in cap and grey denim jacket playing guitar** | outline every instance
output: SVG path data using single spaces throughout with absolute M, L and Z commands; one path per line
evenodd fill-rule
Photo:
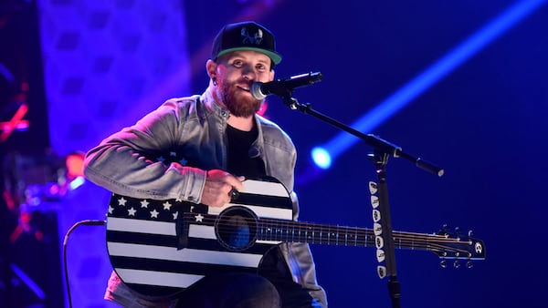
M 281 61 L 272 33 L 255 22 L 223 27 L 206 62 L 202 96 L 166 101 L 131 128 L 103 140 L 85 160 L 91 181 L 134 198 L 222 207 L 246 178 L 274 177 L 293 190 L 296 151 L 276 124 L 259 117 L 253 82 L 274 78 Z M 178 161 L 154 161 L 177 153 Z M 168 155 L 169 156 L 169 155 Z M 291 192 L 295 218 L 297 200 Z M 128 307 L 326 307 L 307 244 L 282 243 L 259 274 L 205 276 L 175 299 L 145 296 L 113 272 L 105 298 Z

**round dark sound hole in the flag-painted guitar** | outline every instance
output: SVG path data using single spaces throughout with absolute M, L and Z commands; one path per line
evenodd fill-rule
M 257 240 L 257 216 L 244 207 L 223 210 L 215 224 L 217 240 L 230 251 L 241 252 Z

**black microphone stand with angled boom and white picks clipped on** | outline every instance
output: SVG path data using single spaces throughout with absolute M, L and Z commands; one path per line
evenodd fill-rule
M 395 269 L 395 252 L 394 252 L 394 238 L 392 236 L 392 221 L 390 218 L 390 205 L 388 202 L 388 187 L 386 184 L 386 165 L 388 163 L 388 158 L 393 156 L 395 158 L 404 158 L 413 162 L 416 167 L 425 169 L 430 173 L 436 174 L 438 177 L 441 177 L 444 173 L 444 170 L 437 167 L 436 165 L 427 162 L 424 159 L 416 158 L 410 154 L 407 154 L 402 150 L 402 148 L 396 146 L 395 144 L 386 141 L 385 139 L 380 139 L 377 136 L 372 134 L 364 134 L 361 131 L 358 131 L 354 128 L 351 128 L 347 125 L 342 124 L 341 122 L 327 117 L 320 112 L 312 109 L 311 104 L 300 104 L 300 102 L 292 98 L 292 91 L 289 89 L 285 94 L 279 95 L 279 98 L 293 110 L 299 110 L 302 113 L 320 118 L 324 122 L 327 122 L 337 128 L 351 133 L 353 136 L 362 139 L 374 148 L 374 153 L 369 154 L 368 158 L 374 163 L 374 167 L 377 173 L 377 178 L 379 184 L 376 186 L 376 191 L 373 193 L 378 193 L 378 217 L 375 218 L 374 210 L 374 221 L 380 223 L 380 230 L 375 229 L 375 246 L 377 248 L 377 260 L 379 262 L 385 261 L 385 266 L 379 265 L 377 267 L 377 273 L 382 279 L 385 276 L 388 276 L 388 293 L 392 301 L 392 307 L 400 307 L 400 283 L 397 280 L 396 269 Z M 377 205 L 373 204 L 374 208 Z M 375 223 L 376 224 L 376 223 Z M 377 225 L 378 226 L 378 225 Z M 385 236 L 381 236 L 385 235 Z

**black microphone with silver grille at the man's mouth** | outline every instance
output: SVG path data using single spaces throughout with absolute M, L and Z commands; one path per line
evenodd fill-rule
M 278 79 L 270 82 L 254 82 L 251 85 L 251 95 L 256 99 L 264 99 L 270 94 L 286 96 L 297 87 L 310 86 L 321 81 L 323 76 L 320 72 L 301 74 L 285 79 Z

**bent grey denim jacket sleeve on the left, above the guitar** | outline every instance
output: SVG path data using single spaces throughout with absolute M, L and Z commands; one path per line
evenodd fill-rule
M 205 171 L 179 163 L 164 164 L 154 155 L 169 152 L 185 118 L 175 100 L 167 101 L 130 128 L 123 128 L 86 154 L 87 179 L 134 198 L 199 202 Z

